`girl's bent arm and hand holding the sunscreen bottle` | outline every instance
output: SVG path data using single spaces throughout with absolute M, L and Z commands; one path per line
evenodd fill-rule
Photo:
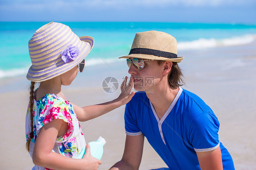
M 86 150 L 82 159 L 73 159 L 52 152 L 56 138 L 64 135 L 61 133 L 65 130 L 67 131 L 67 123 L 60 119 L 52 120 L 40 129 L 33 150 L 33 163 L 54 170 L 97 170 L 101 161 L 92 157 L 89 144 L 89 150 Z

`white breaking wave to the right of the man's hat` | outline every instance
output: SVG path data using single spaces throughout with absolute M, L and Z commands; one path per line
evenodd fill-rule
M 198 40 L 184 41 L 178 43 L 178 50 L 196 50 L 221 46 L 246 45 L 252 43 L 255 40 L 256 35 L 243 35 L 220 40 L 214 38 L 200 38 Z

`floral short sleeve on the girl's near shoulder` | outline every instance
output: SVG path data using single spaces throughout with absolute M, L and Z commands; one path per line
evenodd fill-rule
M 64 142 L 69 139 L 73 132 L 72 117 L 66 101 L 60 99 L 47 101 L 47 104 L 41 108 L 36 128 L 41 129 L 43 125 L 46 125 L 55 119 L 61 119 L 68 123 L 66 134 L 56 139 L 56 142 Z

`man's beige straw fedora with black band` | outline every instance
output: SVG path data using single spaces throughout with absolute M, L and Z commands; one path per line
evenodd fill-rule
M 129 55 L 120 58 L 142 58 L 178 63 L 184 59 L 177 56 L 177 41 L 172 35 L 154 30 L 138 32 L 134 37 Z

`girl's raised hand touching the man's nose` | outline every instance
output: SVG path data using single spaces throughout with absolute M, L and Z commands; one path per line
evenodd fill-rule
M 135 94 L 135 92 L 132 91 L 133 76 L 131 75 L 128 85 L 126 85 L 127 79 L 128 79 L 128 77 L 125 76 L 125 79 L 123 80 L 123 83 L 121 85 L 121 94 L 118 97 L 118 100 L 120 100 L 121 105 L 127 104 L 132 99 L 133 95 Z M 131 93 L 131 91 L 132 91 L 132 93 Z

